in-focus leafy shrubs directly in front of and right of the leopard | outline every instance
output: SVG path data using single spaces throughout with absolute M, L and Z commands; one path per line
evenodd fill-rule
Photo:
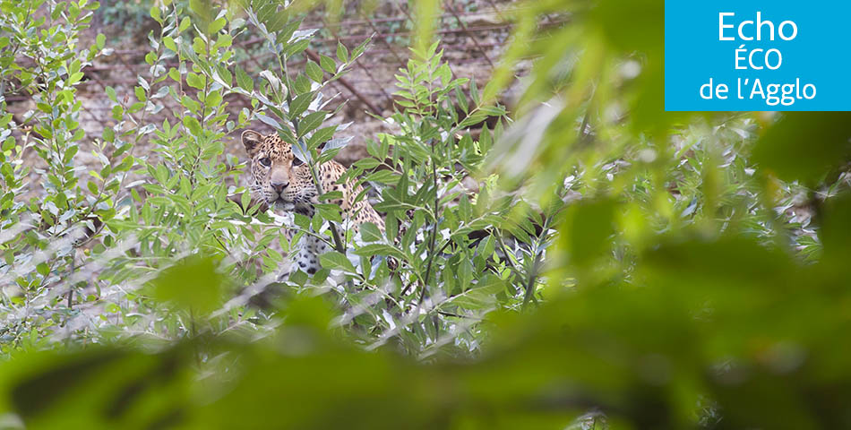
M 256 12 L 247 13 L 247 22 L 267 40 L 279 67 L 274 73 L 260 73 L 264 81 L 257 88 L 240 83 L 237 69 L 235 91 L 245 92 L 265 108 L 258 118 L 293 145 L 314 177 L 320 200 L 340 198 L 340 192 L 322 190 L 317 176 L 319 166 L 348 142 L 333 138 L 340 128 L 337 125 L 322 126 L 336 113 L 323 109 L 329 100 L 322 90 L 351 67 L 369 41 L 350 52 L 340 44 L 336 59 L 322 56 L 320 64 L 308 61 L 304 73 L 290 78 L 288 59 L 308 46 L 313 31 L 297 31 L 300 21 L 282 11 L 271 13 L 271 5 L 253 5 Z M 385 234 L 370 225 L 354 235 L 351 226 L 342 222 L 340 208 L 330 203 L 320 204 L 313 219 L 293 214 L 292 243 L 305 235 L 315 236 L 334 251 L 322 255 L 324 270 L 311 279 L 297 272 L 279 283 L 319 294 L 331 287 L 345 310 L 340 325 L 370 348 L 392 340 L 408 353 L 432 354 L 447 342 L 459 340 L 464 345 L 458 348 L 476 349 L 477 322 L 486 312 L 533 298 L 531 291 L 538 282 L 533 266 L 546 247 L 543 235 L 536 237 L 531 248 L 514 245 L 511 254 L 504 254 L 508 251 L 503 228 L 527 241 L 530 234 L 534 236 L 535 228 L 528 220 L 520 224 L 511 220 L 503 226 L 501 215 L 518 200 L 491 201 L 487 190 L 494 188 L 495 176 L 485 181 L 483 193 L 461 185 L 477 170 L 494 140 L 485 128 L 474 142 L 468 128 L 505 111 L 480 106 L 474 84 L 472 105 L 464 101 L 459 117 L 453 100 L 465 97 L 461 85 L 467 80 L 452 80 L 449 65 L 441 62 L 442 54 L 436 49 L 435 43 L 425 51 L 415 50 L 407 70 L 401 71 L 398 95 L 403 110 L 388 119 L 400 127 L 400 133 L 371 142 L 368 150 L 373 157 L 358 161 L 348 176 L 383 185 L 383 202 L 375 208 L 387 214 Z M 215 80 L 214 73 L 208 79 Z M 502 122 L 497 124 L 498 134 Z M 365 199 L 367 194 L 357 198 Z M 477 233 L 486 237 L 474 236 Z M 502 258 L 494 253 L 497 244 L 503 247 Z M 524 255 L 530 258 L 524 260 Z M 396 265 L 393 270 L 391 261 Z

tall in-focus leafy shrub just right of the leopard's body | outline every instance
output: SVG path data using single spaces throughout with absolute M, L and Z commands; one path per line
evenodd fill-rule
M 349 296 L 360 311 L 349 319 L 377 334 L 365 341 L 374 348 L 395 338 L 403 350 L 423 356 L 477 350 L 477 323 L 485 314 L 535 297 L 538 266 L 552 237 L 546 221 L 536 234 L 529 204 L 494 195 L 496 176 L 474 179 L 506 113 L 482 105 L 475 83 L 468 100 L 461 90 L 468 80 L 452 79 L 437 47 L 412 50 L 397 75 L 400 110 L 386 120 L 400 132 L 368 142 L 372 157 L 350 172 L 382 187 L 375 209 L 386 212 L 385 234 L 365 230 L 348 258 L 359 265 L 330 262 L 368 286 L 360 297 Z M 470 127 L 490 117 L 494 132 L 483 125 L 474 140 Z M 511 250 L 506 240 L 515 244 Z M 376 254 L 398 267 L 376 268 L 370 260 Z

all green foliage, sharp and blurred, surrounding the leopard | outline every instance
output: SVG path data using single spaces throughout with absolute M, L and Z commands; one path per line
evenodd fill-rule
M 848 114 L 666 113 L 660 0 L 522 4 L 482 85 L 417 2 L 394 131 L 348 176 L 386 231 L 296 214 L 292 244 L 334 251 L 281 278 L 293 246 L 225 145 L 259 121 L 315 172 L 348 142 L 322 90 L 370 46 L 291 66 L 304 5 L 158 2 L 92 136 L 99 4 L 0 1 L 0 426 L 851 426 Z

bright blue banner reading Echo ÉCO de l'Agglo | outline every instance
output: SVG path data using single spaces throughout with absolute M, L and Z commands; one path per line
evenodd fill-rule
M 668 111 L 851 110 L 851 0 L 666 0 Z

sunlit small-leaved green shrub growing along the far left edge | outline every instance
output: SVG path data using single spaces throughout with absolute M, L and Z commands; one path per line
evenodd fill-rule
M 74 248 L 84 242 L 86 229 L 96 229 L 94 219 L 116 216 L 113 197 L 133 165 L 125 154 L 128 147 L 116 146 L 107 155 L 103 144 L 97 144 L 95 152 L 101 169 L 81 177 L 73 162 L 79 142 L 86 138 L 75 87 L 84 67 L 105 44 L 101 35 L 90 47 L 82 47 L 79 40 L 97 7 L 85 0 L 0 4 L 4 15 L 0 92 L 4 97 L 30 94 L 36 107 L 15 120 L 6 111 L 5 99 L 0 100 L 4 255 L 0 284 L 2 312 L 14 315 L 3 329 L 5 353 L 10 348 L 43 348 L 45 336 L 73 317 L 74 282 L 84 279 L 83 271 L 90 269 L 75 265 Z M 42 10 L 49 13 L 37 13 Z M 43 167 L 24 165 L 23 157 L 30 151 Z M 35 186 L 27 179 L 30 172 L 40 177 Z M 101 246 L 94 252 L 103 250 Z

